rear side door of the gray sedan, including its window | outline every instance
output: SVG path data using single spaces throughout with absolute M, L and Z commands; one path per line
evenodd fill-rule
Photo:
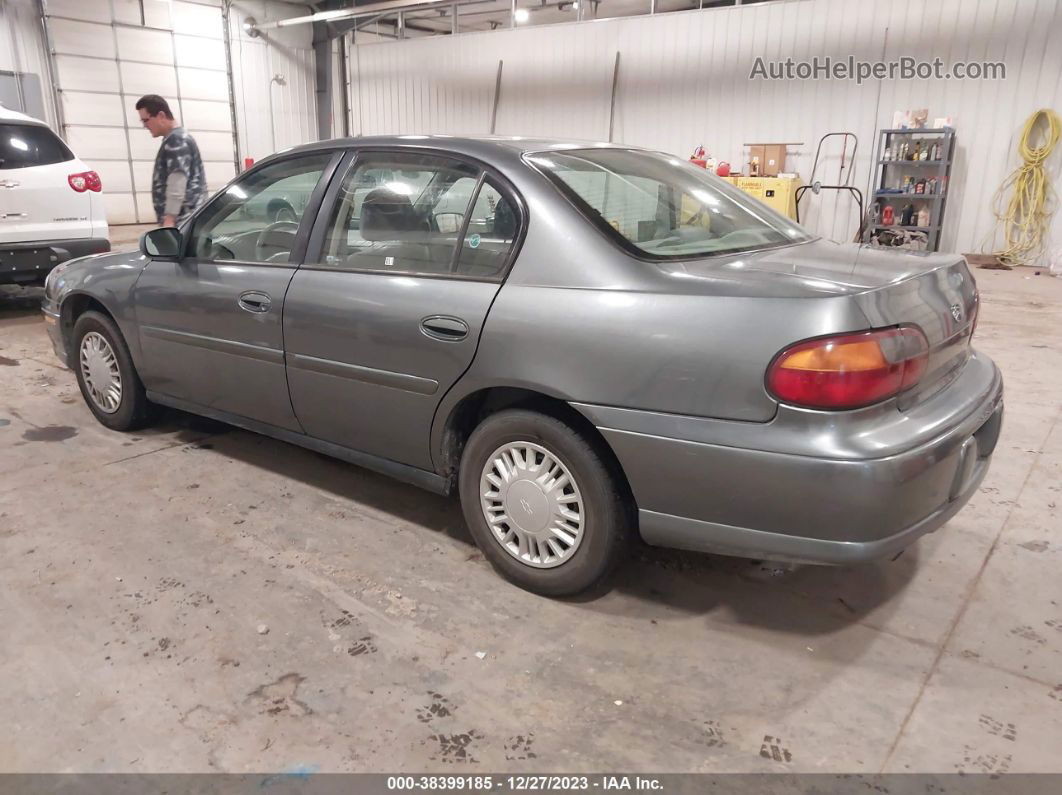
M 472 363 L 521 205 L 477 163 L 382 151 L 359 153 L 326 205 L 285 307 L 295 414 L 311 436 L 429 469 L 435 408 Z

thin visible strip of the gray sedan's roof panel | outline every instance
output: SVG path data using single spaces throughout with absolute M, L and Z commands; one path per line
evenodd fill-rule
M 566 149 L 639 149 L 622 143 L 602 141 L 581 141 L 572 138 L 539 138 L 524 136 L 456 136 L 456 135 L 388 135 L 359 136 L 357 138 L 333 138 L 301 146 L 293 146 L 277 154 L 307 152 L 353 146 L 425 148 L 445 150 L 490 159 L 492 155 L 524 154 L 527 152 L 548 152 Z

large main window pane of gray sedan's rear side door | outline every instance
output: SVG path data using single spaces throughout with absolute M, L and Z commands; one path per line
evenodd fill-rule
M 367 154 L 344 177 L 324 264 L 450 273 L 479 169 L 432 155 Z

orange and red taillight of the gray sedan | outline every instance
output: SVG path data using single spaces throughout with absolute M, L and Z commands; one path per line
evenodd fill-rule
M 784 403 L 859 409 L 914 386 L 928 360 L 929 343 L 912 326 L 820 338 L 778 353 L 767 388 Z

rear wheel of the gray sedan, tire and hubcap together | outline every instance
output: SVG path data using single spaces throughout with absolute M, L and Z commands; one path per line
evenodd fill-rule
M 543 595 L 601 583 L 622 559 L 630 509 L 598 447 L 566 422 L 493 414 L 461 459 L 465 520 L 494 568 Z

